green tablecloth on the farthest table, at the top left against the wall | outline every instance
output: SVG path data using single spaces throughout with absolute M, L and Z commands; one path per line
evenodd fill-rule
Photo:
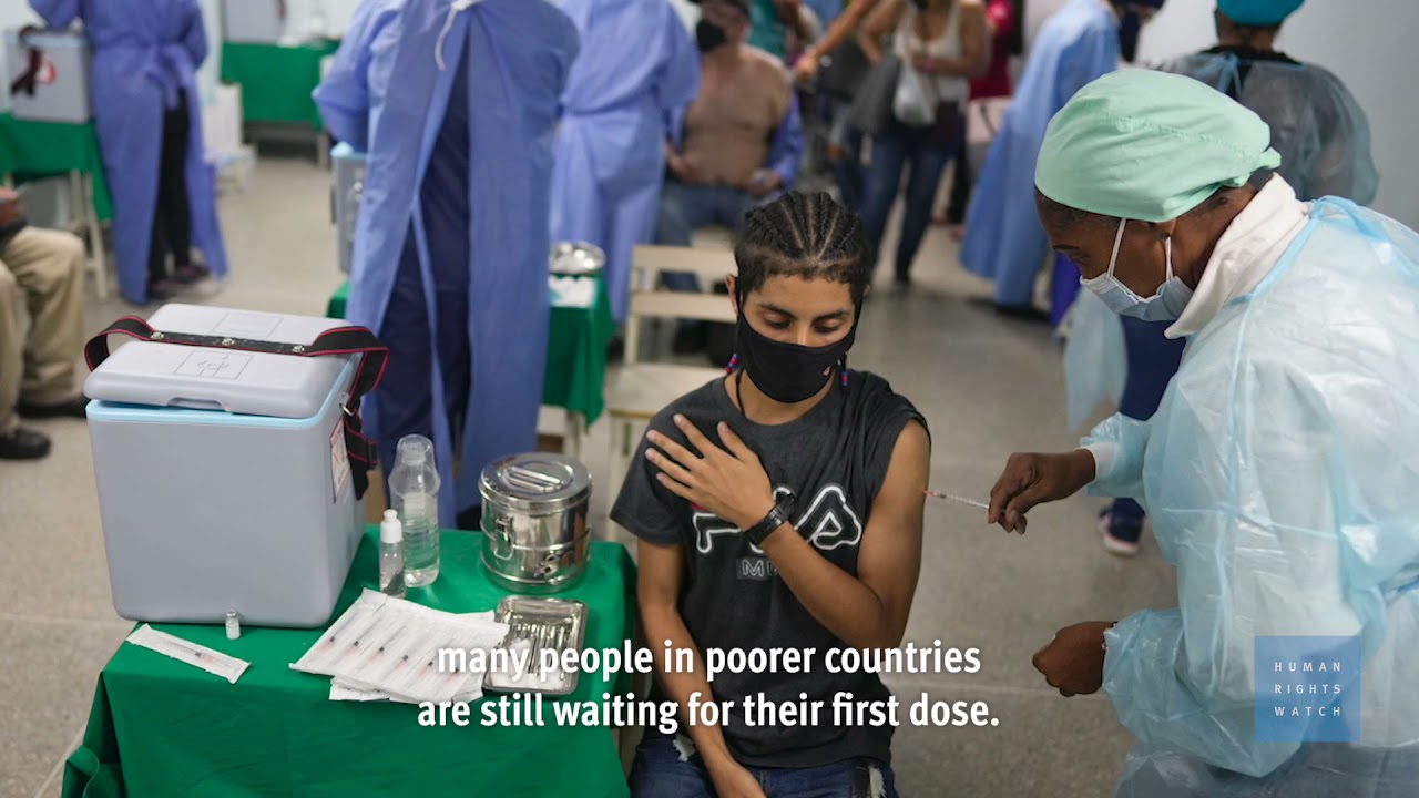
M 241 85 L 241 116 L 247 122 L 288 122 L 325 129 L 311 92 L 321 84 L 321 60 L 338 41 L 221 45 L 221 82 Z

